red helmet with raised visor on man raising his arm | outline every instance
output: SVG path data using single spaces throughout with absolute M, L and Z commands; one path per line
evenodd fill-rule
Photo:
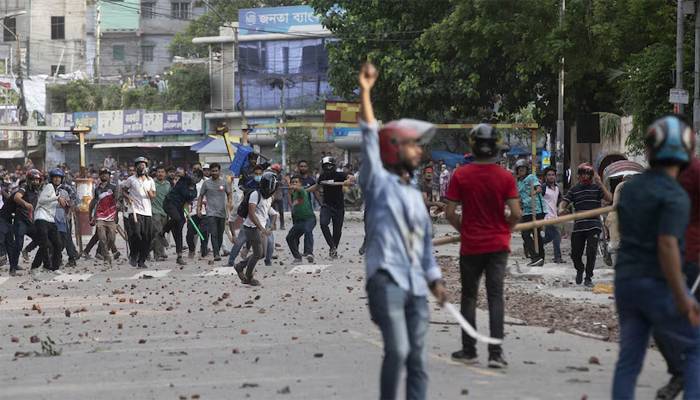
M 435 125 L 417 119 L 400 119 L 384 125 L 379 131 L 379 153 L 385 167 L 401 164 L 399 155 L 401 144 L 415 140 L 426 144 L 435 135 Z

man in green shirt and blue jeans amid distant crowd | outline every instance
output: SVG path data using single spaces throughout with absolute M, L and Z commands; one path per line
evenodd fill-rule
M 299 239 L 304 236 L 304 257 L 314 262 L 314 227 L 316 215 L 311 204 L 311 192 L 316 190 L 316 185 L 304 189 L 301 177 L 294 176 L 289 186 L 292 198 L 292 229 L 287 234 L 287 244 L 292 251 L 294 262 L 300 263 L 302 255 L 299 254 Z

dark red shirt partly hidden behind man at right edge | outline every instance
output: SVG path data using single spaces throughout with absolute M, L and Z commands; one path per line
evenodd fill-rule
M 685 231 L 685 259 L 700 261 L 700 159 L 693 158 L 690 166 L 678 178 L 690 197 L 690 223 Z

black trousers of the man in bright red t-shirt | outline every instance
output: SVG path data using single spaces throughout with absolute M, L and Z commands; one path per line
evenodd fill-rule
M 489 331 L 491 337 L 503 339 L 505 302 L 503 300 L 503 277 L 505 276 L 507 252 L 485 253 L 459 258 L 459 275 L 462 282 L 462 315 L 476 328 L 476 299 L 481 275 L 486 276 L 486 298 L 489 304 Z M 476 339 L 462 332 L 462 349 L 467 354 L 476 354 Z M 489 354 L 500 354 L 500 345 L 489 345 Z

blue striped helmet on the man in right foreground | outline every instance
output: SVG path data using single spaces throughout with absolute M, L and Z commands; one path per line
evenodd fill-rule
M 645 144 L 650 164 L 687 165 L 690 162 L 695 135 L 680 118 L 669 115 L 654 121 L 647 130 Z

